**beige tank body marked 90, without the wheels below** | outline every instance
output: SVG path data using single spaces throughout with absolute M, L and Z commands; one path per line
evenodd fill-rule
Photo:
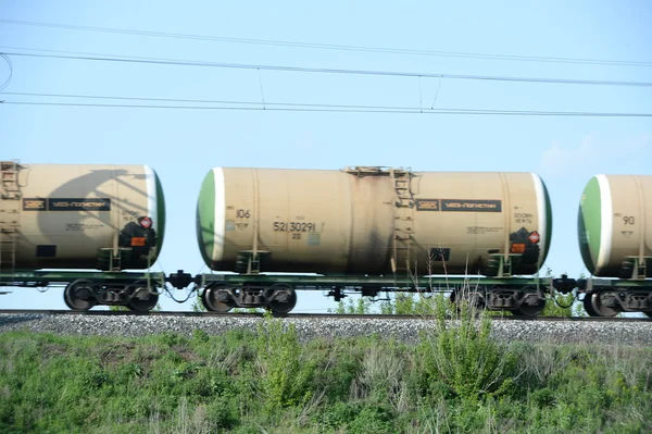
M 652 258 L 652 176 L 593 176 L 578 212 L 581 258 L 594 276 L 631 277 Z

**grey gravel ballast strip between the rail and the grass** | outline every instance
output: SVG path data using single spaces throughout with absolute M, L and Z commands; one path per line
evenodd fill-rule
M 176 333 L 191 336 L 195 330 L 210 335 L 228 330 L 246 328 L 255 331 L 265 320 L 228 317 L 149 317 L 149 315 L 66 315 L 43 313 L 0 314 L 0 333 L 9 331 L 30 331 L 62 335 L 102 335 L 139 337 L 159 333 Z M 293 323 L 299 339 L 315 337 L 353 337 L 378 334 L 405 342 L 416 342 L 418 332 L 434 330 L 431 320 L 400 319 L 281 319 Z M 455 322 L 451 322 L 454 326 Z M 606 322 L 606 321 L 500 321 L 492 322 L 492 335 L 503 342 L 549 342 L 555 344 L 595 343 L 634 346 L 652 345 L 652 322 Z

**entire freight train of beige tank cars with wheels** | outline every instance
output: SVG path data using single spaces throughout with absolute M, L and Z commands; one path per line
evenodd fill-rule
M 215 312 L 287 313 L 299 290 L 336 300 L 450 292 L 537 315 L 555 292 L 576 290 L 591 315 L 652 317 L 652 176 L 588 183 L 578 238 L 593 277 L 574 280 L 538 276 L 552 209 L 534 173 L 214 168 L 199 188 L 196 225 L 203 261 L 220 273 L 198 275 L 149 272 L 165 233 L 151 168 L 5 161 L 0 175 L 0 286 L 63 285 L 73 310 L 148 311 L 163 290 L 192 287 Z

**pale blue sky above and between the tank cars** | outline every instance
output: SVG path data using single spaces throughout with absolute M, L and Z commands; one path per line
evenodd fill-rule
M 212 109 L 203 110 L 0 103 L 0 158 L 153 168 L 167 207 L 165 244 L 153 271 L 166 274 L 209 272 L 196 243 L 195 209 L 201 182 L 214 166 L 536 172 L 553 207 L 552 245 L 542 270 L 577 277 L 586 272 L 576 235 L 581 191 L 594 174 L 651 174 L 652 117 L 428 111 L 652 113 L 650 86 L 450 77 L 652 82 L 650 22 L 647 0 L 0 0 L 0 53 L 12 65 L 0 58 L 0 87 L 9 79 L 0 101 L 175 104 L 15 95 L 57 94 L 250 102 L 211 102 L 203 106 Z M 46 50 L 411 76 L 18 55 L 63 54 Z M 431 77 L 437 74 L 449 76 Z M 409 107 L 424 113 L 234 110 L 260 108 L 263 101 L 265 109 L 289 102 Z M 15 288 L 0 302 L 8 309 L 66 309 L 62 294 Z M 183 290 L 174 294 L 186 297 Z M 190 301 L 166 296 L 160 303 L 164 310 L 190 309 Z M 294 312 L 334 306 L 321 293 L 300 293 Z

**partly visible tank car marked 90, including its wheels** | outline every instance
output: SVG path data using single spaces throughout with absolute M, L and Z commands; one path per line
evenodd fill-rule
M 643 312 L 652 317 L 652 176 L 599 174 L 579 203 L 581 258 L 594 277 L 580 280 L 593 317 Z

